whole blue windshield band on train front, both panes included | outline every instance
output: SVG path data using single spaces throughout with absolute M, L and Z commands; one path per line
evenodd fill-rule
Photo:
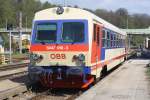
M 70 25 L 72 23 L 73 25 Z M 68 27 L 70 28 L 71 26 L 73 28 L 64 29 L 65 28 L 64 25 L 66 28 Z M 73 33 L 72 31 L 74 31 L 75 33 Z M 87 20 L 71 19 L 71 20 L 35 21 L 32 32 L 33 34 L 31 36 L 32 37 L 31 44 L 41 44 L 41 43 L 42 44 L 45 43 L 46 44 L 87 44 L 88 43 L 88 21 Z M 63 33 L 67 33 L 67 34 L 63 34 Z M 71 38 L 70 40 L 67 39 L 68 34 L 75 35 L 75 38 Z M 40 35 L 42 35 L 42 37 Z

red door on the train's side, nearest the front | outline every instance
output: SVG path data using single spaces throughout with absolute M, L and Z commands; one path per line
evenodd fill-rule
M 92 59 L 91 62 L 98 68 L 98 61 L 101 59 L 101 26 L 94 24 L 92 39 Z M 97 72 L 96 72 L 97 73 Z

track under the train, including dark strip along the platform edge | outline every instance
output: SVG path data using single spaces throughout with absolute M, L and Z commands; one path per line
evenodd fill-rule
M 108 72 L 106 76 L 109 76 L 113 71 L 115 71 L 120 65 L 116 66 L 112 70 Z M 102 77 L 98 82 L 103 80 L 106 76 Z M 93 85 L 94 86 L 94 85 Z M 92 88 L 91 86 L 90 88 Z M 80 96 L 82 93 L 87 91 L 88 89 L 81 90 L 81 89 L 43 89 L 39 88 L 40 86 L 37 86 L 38 89 L 33 89 L 31 91 L 26 91 L 23 93 L 20 93 L 19 95 L 16 95 L 16 97 L 13 97 L 14 99 L 23 99 L 23 100 L 74 100 L 78 96 Z M 36 88 L 37 88 L 36 87 Z M 29 89 L 30 90 L 30 89 Z

